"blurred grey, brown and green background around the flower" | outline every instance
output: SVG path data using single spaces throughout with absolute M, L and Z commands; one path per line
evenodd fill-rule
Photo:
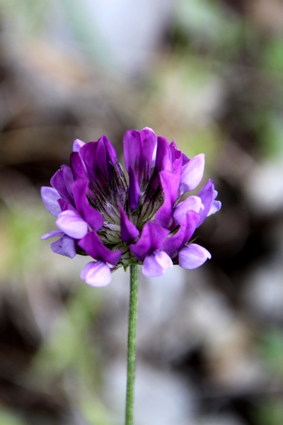
M 0 425 L 123 423 L 129 276 L 40 241 L 40 186 L 145 126 L 223 207 L 211 261 L 141 276 L 135 423 L 283 424 L 282 114 L 281 0 L 0 0 Z

